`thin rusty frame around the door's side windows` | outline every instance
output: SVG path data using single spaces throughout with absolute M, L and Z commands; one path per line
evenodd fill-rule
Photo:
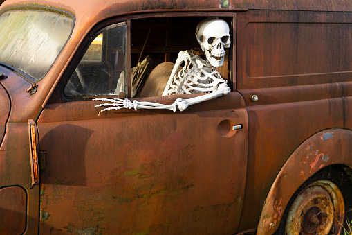
M 238 10 L 238 11 L 243 11 L 243 10 Z M 98 36 L 101 31 L 109 26 L 112 26 L 113 24 L 119 24 L 122 22 L 126 22 L 127 25 L 127 51 L 126 51 L 126 71 L 127 71 L 127 89 L 128 89 L 128 95 L 126 98 L 131 98 L 131 21 L 134 19 L 146 19 L 146 18 L 156 18 L 156 17 L 227 17 L 231 18 L 231 24 L 230 26 L 230 34 L 232 35 L 232 44 L 230 46 L 230 56 L 229 56 L 229 78 L 228 78 L 228 85 L 231 88 L 232 91 L 236 90 L 236 28 L 237 28 L 237 12 L 219 12 L 219 11 L 206 11 L 206 12 L 155 12 L 155 13 L 142 13 L 138 15 L 127 15 L 124 17 L 113 17 L 104 21 L 100 21 L 98 24 L 93 26 L 91 31 L 86 34 L 84 37 L 84 40 L 80 43 L 80 46 L 78 46 L 77 51 L 75 52 L 75 55 L 73 55 L 71 62 L 69 62 L 68 67 L 66 67 L 66 70 L 64 71 L 62 78 L 58 82 L 57 86 L 55 87 L 55 90 L 48 100 L 49 103 L 57 103 L 57 102 L 71 102 L 71 101 L 89 101 L 91 98 L 66 98 L 64 95 L 64 87 L 66 86 L 66 83 L 68 80 L 71 78 L 71 75 L 77 65 L 80 63 L 80 60 L 82 60 L 83 55 L 88 49 L 89 45 L 91 42 L 93 42 L 93 39 L 95 36 Z M 192 95 L 191 95 L 192 96 Z M 197 94 L 194 94 L 194 96 L 198 96 Z M 121 98 L 117 95 L 106 95 L 106 96 L 97 96 L 94 98 Z M 122 97 L 124 98 L 124 97 Z M 142 97 L 140 97 L 142 98 Z M 133 98 L 134 99 L 134 98 Z

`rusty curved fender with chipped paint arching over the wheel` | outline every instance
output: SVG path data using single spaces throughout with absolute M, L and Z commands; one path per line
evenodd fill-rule
M 352 166 L 352 131 L 329 129 L 304 141 L 284 164 L 266 197 L 257 234 L 272 234 L 295 191 L 321 168 L 333 164 Z

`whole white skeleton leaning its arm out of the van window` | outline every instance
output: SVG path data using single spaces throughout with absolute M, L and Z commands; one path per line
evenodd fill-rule
M 194 55 L 191 51 L 180 51 L 174 69 L 164 89 L 163 96 L 175 94 L 198 94 L 207 93 L 194 98 L 177 98 L 171 105 L 152 103 L 145 101 L 130 101 L 129 99 L 96 98 L 94 101 L 109 101 L 95 107 L 106 107 L 106 110 L 119 110 L 122 108 L 138 109 L 167 109 L 182 112 L 189 105 L 223 96 L 230 92 L 227 82 L 221 78 L 216 67 L 223 65 L 225 48 L 231 44 L 230 30 L 223 19 L 206 19 L 198 24 L 196 37 L 205 52 L 207 60 Z M 183 68 L 180 69 L 181 65 Z M 180 71 L 179 71 L 180 70 Z

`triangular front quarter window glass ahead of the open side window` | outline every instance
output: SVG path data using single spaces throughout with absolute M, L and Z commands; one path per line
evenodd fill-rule
M 104 28 L 89 45 L 64 89 L 68 98 L 127 94 L 126 24 Z

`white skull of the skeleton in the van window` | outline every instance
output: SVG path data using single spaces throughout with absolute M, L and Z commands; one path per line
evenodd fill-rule
M 231 44 L 228 23 L 223 19 L 205 19 L 198 24 L 196 37 L 210 64 L 221 67 L 225 48 L 229 48 Z

